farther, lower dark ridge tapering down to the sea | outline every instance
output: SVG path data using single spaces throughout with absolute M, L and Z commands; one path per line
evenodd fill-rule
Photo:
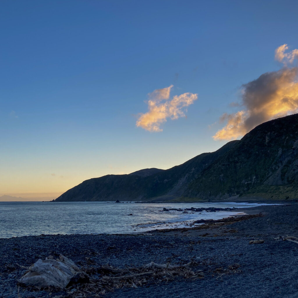
M 128 175 L 92 178 L 66 191 L 56 201 L 146 201 L 160 196 L 165 196 L 163 199 L 177 198 L 205 167 L 237 142 L 239 141 L 229 142 L 215 152 L 200 154 L 168 170 L 145 169 Z M 153 174 L 144 176 L 148 170 L 152 170 Z M 156 170 L 158 173 L 154 173 Z

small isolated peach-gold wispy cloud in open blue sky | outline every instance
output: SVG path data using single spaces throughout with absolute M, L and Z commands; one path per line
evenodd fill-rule
M 173 85 L 156 89 L 148 94 L 148 112 L 141 114 L 136 121 L 137 127 L 142 127 L 151 132 L 162 131 L 160 125 L 167 121 L 167 118 L 178 119 L 185 117 L 185 108 L 191 105 L 197 98 L 198 94 L 184 93 L 175 95 L 170 100 L 170 90 Z

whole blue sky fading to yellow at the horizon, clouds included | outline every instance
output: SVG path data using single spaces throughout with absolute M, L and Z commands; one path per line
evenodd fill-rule
M 297 11 L 1 1 L 0 196 L 56 198 L 86 179 L 167 169 L 297 112 Z

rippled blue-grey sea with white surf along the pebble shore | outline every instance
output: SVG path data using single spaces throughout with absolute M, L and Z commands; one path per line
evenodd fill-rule
M 0 202 L 0 238 L 40 234 L 137 233 L 181 227 L 199 218 L 219 219 L 236 212 L 178 211 L 166 208 L 254 207 L 253 203 L 113 203 L 113 202 Z M 266 205 L 266 204 L 262 204 Z M 132 213 L 132 216 L 128 214 Z M 169 224 L 170 223 L 170 224 Z

